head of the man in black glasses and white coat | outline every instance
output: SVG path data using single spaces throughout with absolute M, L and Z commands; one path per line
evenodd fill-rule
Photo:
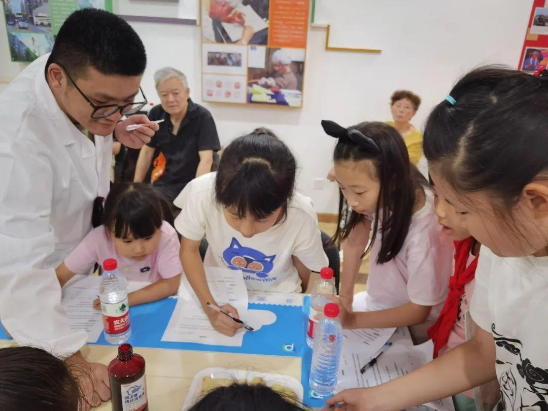
M 45 64 L 45 78 L 73 123 L 106 136 L 122 115 L 135 113 L 146 102 L 139 87 L 145 66 L 145 47 L 125 20 L 86 8 L 62 24 Z

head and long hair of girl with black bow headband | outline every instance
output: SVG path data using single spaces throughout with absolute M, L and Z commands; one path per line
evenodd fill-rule
M 401 250 L 413 214 L 417 192 L 426 180 L 409 163 L 406 145 L 397 130 L 380 122 L 360 123 L 348 129 L 322 122 L 326 133 L 338 138 L 333 154 L 335 175 L 343 196 L 334 235 L 344 241 L 352 229 L 375 215 L 371 248 L 380 225 L 381 246 L 376 262 L 390 261 Z M 344 208 L 352 208 L 345 216 Z

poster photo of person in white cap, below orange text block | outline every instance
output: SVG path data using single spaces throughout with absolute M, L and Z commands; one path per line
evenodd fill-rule
M 302 105 L 305 49 L 249 46 L 248 102 Z

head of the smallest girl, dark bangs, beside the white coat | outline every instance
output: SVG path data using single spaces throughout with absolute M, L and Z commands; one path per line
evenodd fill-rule
M 118 254 L 141 261 L 155 252 L 164 220 L 173 224 L 171 209 L 151 184 L 121 182 L 112 186 L 102 224 Z

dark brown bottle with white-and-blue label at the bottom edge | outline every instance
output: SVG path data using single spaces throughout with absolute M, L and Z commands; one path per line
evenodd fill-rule
M 131 345 L 122 344 L 108 370 L 112 411 L 148 411 L 145 359 L 133 353 Z

